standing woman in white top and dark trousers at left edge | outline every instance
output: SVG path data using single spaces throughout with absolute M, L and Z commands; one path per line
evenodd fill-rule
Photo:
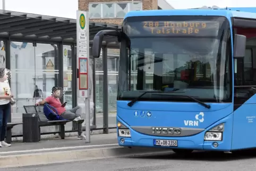
M 7 69 L 0 68 L 0 147 L 10 147 L 4 141 L 6 134 L 6 126 L 8 118 L 11 115 L 11 102 L 12 99 L 10 85 L 8 83 Z

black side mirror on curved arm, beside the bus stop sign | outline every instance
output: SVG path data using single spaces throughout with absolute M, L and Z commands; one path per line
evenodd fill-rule
M 102 42 L 104 36 L 115 36 L 120 37 L 120 32 L 117 30 L 101 30 L 99 31 L 95 37 L 93 38 L 92 42 L 92 57 L 98 58 L 100 56 L 100 50 L 102 47 Z

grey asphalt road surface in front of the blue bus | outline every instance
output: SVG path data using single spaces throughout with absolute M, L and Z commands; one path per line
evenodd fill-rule
M 31 166 L 22 168 L 1 169 L 1 171 L 35 171 L 35 170 L 104 170 L 104 171 L 132 171 L 132 170 L 255 170 L 256 152 L 250 154 L 226 154 L 214 152 L 193 152 L 190 156 L 180 157 L 171 150 L 169 155 L 153 155 L 141 157 L 122 157 L 101 160 L 79 161 L 65 164 L 45 166 Z

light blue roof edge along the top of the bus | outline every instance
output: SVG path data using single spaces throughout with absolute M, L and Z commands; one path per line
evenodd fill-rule
M 242 8 L 240 8 L 242 9 Z M 254 10 L 253 10 L 254 9 Z M 155 16 L 155 15 L 209 15 L 209 16 L 225 16 L 226 18 L 246 18 L 256 19 L 256 8 L 251 9 L 249 12 L 236 11 L 238 8 L 226 9 L 186 9 L 186 10 L 145 10 L 145 11 L 130 11 L 126 13 L 125 18 L 130 16 Z

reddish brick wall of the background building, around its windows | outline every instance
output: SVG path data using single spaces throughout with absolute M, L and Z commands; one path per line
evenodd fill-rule
M 87 11 L 90 2 L 127 2 L 129 0 L 78 0 L 79 10 Z M 135 1 L 134 1 L 135 2 Z M 142 0 L 143 10 L 157 10 L 157 0 Z M 122 24 L 123 19 L 93 19 L 93 22 L 109 23 L 109 24 Z

